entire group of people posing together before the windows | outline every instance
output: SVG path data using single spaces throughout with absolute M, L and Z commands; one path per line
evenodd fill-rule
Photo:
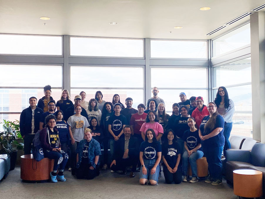
M 129 176 L 134 177 L 138 165 L 142 185 L 157 185 L 162 170 L 166 183 L 178 184 L 188 181 L 190 163 L 189 182 L 196 183 L 196 160 L 205 156 L 210 173 L 205 182 L 222 183 L 221 157 L 231 148 L 228 138 L 234 114 L 234 103 L 225 87 L 219 87 L 214 102 L 207 106 L 202 96 L 187 99 L 181 92 L 171 116 L 166 113 L 165 101 L 158 97 L 157 87 L 137 110 L 132 108 L 130 97 L 125 100 L 125 108 L 118 94 L 112 102 L 106 102 L 102 92 L 97 91 L 87 102 L 86 93 L 81 91 L 73 103 L 64 89 L 55 103 L 51 86 L 43 90 L 45 96 L 38 104 L 37 98 L 31 97 L 30 106 L 22 111 L 20 131 L 25 154 L 31 153 L 33 138 L 39 131 L 44 157 L 55 159 L 50 173 L 53 182 L 66 181 L 63 170 L 67 165 L 78 179 L 93 179 L 108 166 L 111 173 L 120 174 L 126 174 L 127 167 L 132 166 Z

